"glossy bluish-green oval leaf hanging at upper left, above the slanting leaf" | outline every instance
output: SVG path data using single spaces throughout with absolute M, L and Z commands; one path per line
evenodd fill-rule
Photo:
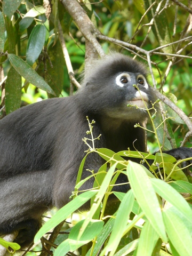
M 28 39 L 26 61 L 32 66 L 39 57 L 45 43 L 46 28 L 44 25 L 36 25 Z

